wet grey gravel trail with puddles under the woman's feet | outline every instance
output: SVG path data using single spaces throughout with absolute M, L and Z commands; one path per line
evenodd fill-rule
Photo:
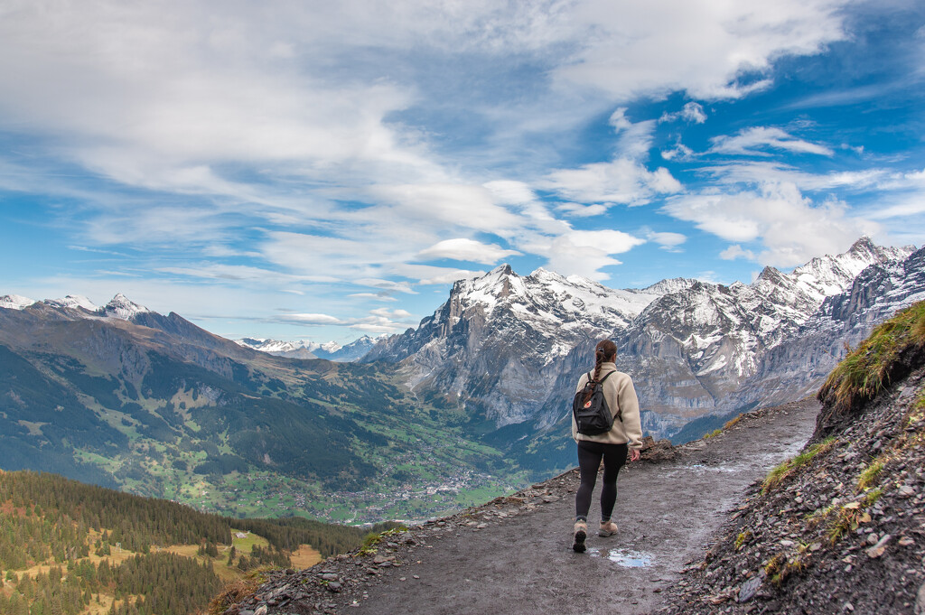
M 613 515 L 620 532 L 607 538 L 596 531 L 598 477 L 584 554 L 571 548 L 577 471 L 543 484 L 552 501 L 536 510 L 478 527 L 435 526 L 401 568 L 338 612 L 654 611 L 685 562 L 703 557 L 746 487 L 803 447 L 818 411 L 816 400 L 803 400 L 755 412 L 721 436 L 681 447 L 673 461 L 629 464 Z

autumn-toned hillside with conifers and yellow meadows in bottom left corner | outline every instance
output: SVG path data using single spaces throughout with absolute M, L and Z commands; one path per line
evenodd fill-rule
M 0 614 L 186 615 L 228 582 L 266 566 L 310 566 L 366 533 L 230 519 L 55 474 L 0 472 Z

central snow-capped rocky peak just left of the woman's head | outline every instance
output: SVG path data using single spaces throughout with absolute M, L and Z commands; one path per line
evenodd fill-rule
M 573 348 L 623 329 L 661 294 L 695 283 L 614 290 L 543 269 L 520 277 L 503 265 L 457 282 L 437 312 L 380 341 L 364 362 L 403 362 L 415 390 L 475 406 L 499 427 L 523 423 L 552 393 Z

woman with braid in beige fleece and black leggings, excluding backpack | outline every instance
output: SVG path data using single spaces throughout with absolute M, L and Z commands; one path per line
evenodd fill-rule
M 587 512 L 591 508 L 591 494 L 598 481 L 600 460 L 604 460 L 604 486 L 600 491 L 600 529 L 598 535 L 612 536 L 617 533 L 617 524 L 611 521 L 613 505 L 617 501 L 617 474 L 626 462 L 627 451 L 630 461 L 639 459 L 642 446 L 642 426 L 639 422 L 639 400 L 636 399 L 633 380 L 617 371 L 614 359 L 617 345 L 610 339 L 603 339 L 595 347 L 595 365 L 592 372 L 582 375 L 575 392 L 592 382 L 603 380 L 604 399 L 616 417 L 611 430 L 597 436 L 578 433 L 578 425 L 572 417 L 572 437 L 578 445 L 578 467 L 581 472 L 581 486 L 575 495 L 574 544 L 578 553 L 585 552 L 587 537 Z M 620 414 L 618 414 L 620 412 Z

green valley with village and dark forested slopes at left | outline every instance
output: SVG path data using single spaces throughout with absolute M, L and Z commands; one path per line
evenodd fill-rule
M 384 363 L 241 348 L 176 314 L 147 326 L 0 311 L 0 468 L 232 517 L 422 519 L 523 486 L 480 419 Z

